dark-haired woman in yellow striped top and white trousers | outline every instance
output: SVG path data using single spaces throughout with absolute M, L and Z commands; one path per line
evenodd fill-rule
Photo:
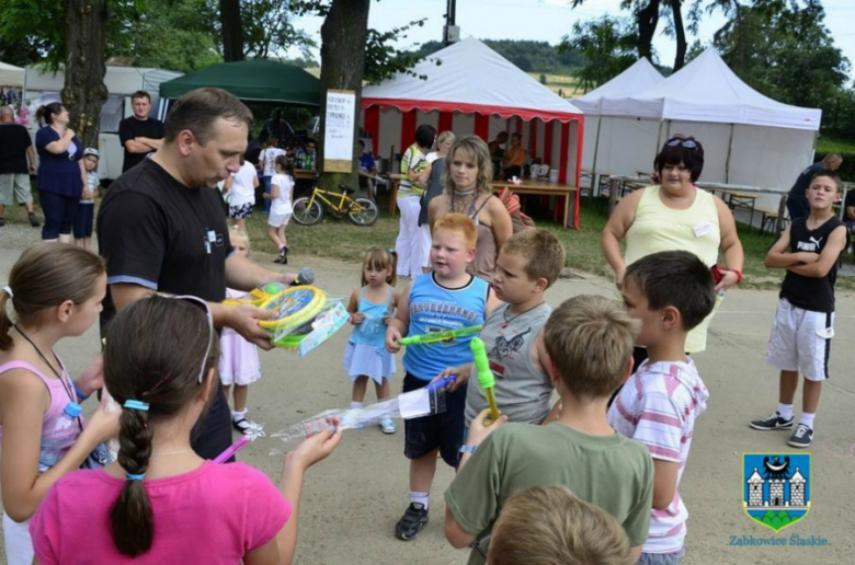
M 404 177 L 401 180 L 396 198 L 401 220 L 398 239 L 395 242 L 399 277 L 415 278 L 422 274 L 422 267 L 428 264 L 428 257 L 422 250 L 419 212 L 422 194 L 431 175 L 431 165 L 428 163 L 426 155 L 435 140 L 436 129 L 422 124 L 415 130 L 415 142 L 401 158 L 401 174 Z

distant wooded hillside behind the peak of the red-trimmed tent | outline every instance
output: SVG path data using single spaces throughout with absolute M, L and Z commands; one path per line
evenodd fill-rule
M 575 68 L 584 65 L 584 59 L 578 51 L 559 54 L 555 46 L 546 42 L 483 39 L 483 43 L 529 73 L 570 76 Z M 421 45 L 418 54 L 424 57 L 433 55 L 442 48 L 443 44 L 440 42 L 428 42 Z

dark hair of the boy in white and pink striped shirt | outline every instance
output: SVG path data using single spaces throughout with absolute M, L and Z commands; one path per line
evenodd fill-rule
M 685 331 L 703 322 L 716 305 L 713 273 L 687 251 L 661 251 L 641 257 L 627 267 L 624 285 L 628 282 L 638 285 L 651 310 L 676 308 Z

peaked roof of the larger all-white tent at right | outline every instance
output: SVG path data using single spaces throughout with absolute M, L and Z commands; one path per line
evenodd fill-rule
M 601 114 L 818 130 L 822 111 L 776 102 L 742 82 L 711 47 L 668 79 L 602 100 Z

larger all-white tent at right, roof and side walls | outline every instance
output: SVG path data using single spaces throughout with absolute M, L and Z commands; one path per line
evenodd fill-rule
M 650 171 L 661 143 L 695 136 L 705 150 L 702 180 L 789 189 L 813 158 L 821 111 L 782 104 L 742 82 L 713 49 L 643 90 L 602 97 L 596 169 Z M 767 198 L 765 207 L 776 207 Z M 759 204 L 760 206 L 760 204 Z

